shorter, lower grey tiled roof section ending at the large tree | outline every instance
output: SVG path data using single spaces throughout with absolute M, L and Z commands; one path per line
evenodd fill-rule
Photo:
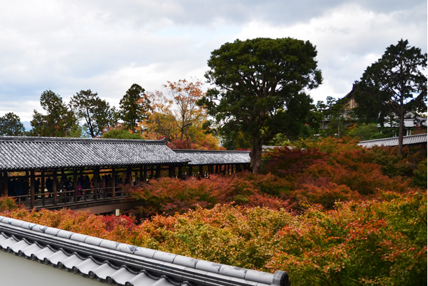
M 188 158 L 189 165 L 244 164 L 250 163 L 250 151 L 174 150 L 181 158 Z

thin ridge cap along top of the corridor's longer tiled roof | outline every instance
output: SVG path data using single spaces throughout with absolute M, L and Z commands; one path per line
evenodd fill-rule
M 113 139 L 113 138 L 81 138 L 81 137 L 33 137 L 33 136 L 0 136 L 0 142 L 96 142 L 96 143 L 132 143 L 132 144 L 164 144 L 165 139 Z

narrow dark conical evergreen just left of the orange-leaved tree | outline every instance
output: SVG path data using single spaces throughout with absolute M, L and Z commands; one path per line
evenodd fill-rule
M 136 132 L 138 123 L 145 120 L 147 111 L 151 110 L 145 89 L 134 83 L 123 95 L 119 104 L 119 118 L 123 121 L 123 127 Z

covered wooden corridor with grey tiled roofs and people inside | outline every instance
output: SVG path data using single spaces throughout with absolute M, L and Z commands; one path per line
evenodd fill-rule
M 171 150 L 163 140 L 0 137 L 0 195 L 27 208 L 135 207 L 126 186 L 249 168 L 248 151 Z

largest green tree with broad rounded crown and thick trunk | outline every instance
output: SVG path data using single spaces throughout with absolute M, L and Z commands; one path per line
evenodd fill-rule
M 315 57 L 312 43 L 291 38 L 236 40 L 211 53 L 206 78 L 215 88 L 200 104 L 222 130 L 248 138 L 253 172 L 260 172 L 265 142 L 305 125 L 312 103 L 307 91 L 322 80 Z

